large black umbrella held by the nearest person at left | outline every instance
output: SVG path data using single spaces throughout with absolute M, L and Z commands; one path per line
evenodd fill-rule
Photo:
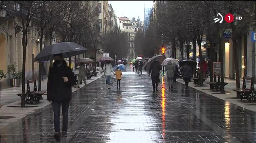
M 54 54 L 62 54 L 63 58 L 83 54 L 87 49 L 74 42 L 55 43 L 44 47 L 35 57 L 34 61 L 49 61 L 53 59 Z

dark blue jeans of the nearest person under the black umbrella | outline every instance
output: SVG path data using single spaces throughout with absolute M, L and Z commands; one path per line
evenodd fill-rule
M 52 109 L 53 109 L 53 122 L 54 122 L 54 130 L 55 132 L 60 132 L 60 105 L 62 107 L 62 131 L 67 131 L 68 129 L 68 101 L 52 101 Z

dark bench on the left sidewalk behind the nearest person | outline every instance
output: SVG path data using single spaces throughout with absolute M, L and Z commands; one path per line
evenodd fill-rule
M 34 82 L 34 90 L 33 90 L 33 92 L 31 92 L 29 84 L 33 83 L 33 82 Z M 33 101 L 37 101 L 38 102 L 45 92 L 46 91 L 44 91 L 44 90 L 37 91 L 36 79 L 28 80 L 27 81 L 27 91 L 25 93 L 25 102 L 26 103 L 33 103 Z M 17 95 L 21 97 L 22 93 L 19 93 Z

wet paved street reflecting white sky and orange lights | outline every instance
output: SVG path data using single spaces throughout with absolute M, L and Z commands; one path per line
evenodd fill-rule
M 61 142 L 256 142 L 255 112 L 180 83 L 169 91 L 166 79 L 160 79 L 156 93 L 149 75 L 133 72 L 124 72 L 120 90 L 116 82 L 106 89 L 101 77 L 73 92 L 68 138 Z M 49 105 L 0 128 L 0 143 L 55 143 L 52 114 Z

